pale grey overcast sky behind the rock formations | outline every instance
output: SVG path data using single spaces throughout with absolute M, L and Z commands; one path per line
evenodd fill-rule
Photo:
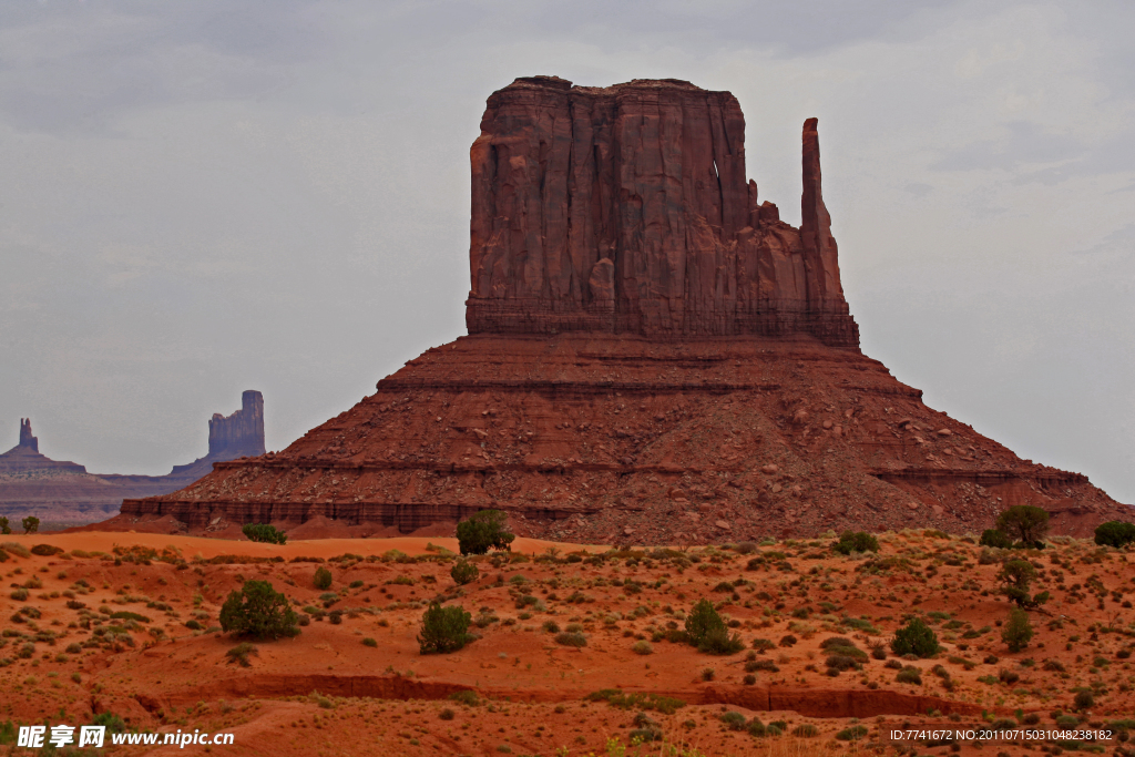
M 1135 502 L 1135 3 L 10 0 L 0 449 L 166 473 L 264 394 L 287 446 L 464 334 L 469 145 L 516 76 L 683 78 L 800 215 L 864 352 Z

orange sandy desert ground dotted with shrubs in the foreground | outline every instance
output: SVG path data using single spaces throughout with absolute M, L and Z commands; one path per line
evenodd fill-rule
M 1105 726 L 1130 717 L 1135 705 L 1127 659 L 1135 624 L 1125 596 L 1135 590 L 1135 565 L 1126 552 L 1084 540 L 986 553 L 985 562 L 1009 554 L 1033 561 L 1041 577 L 1033 590 L 1053 595 L 1031 613 L 1036 634 L 1017 654 L 1009 654 L 998 628 L 1009 612 L 997 592 L 999 563 L 980 564 L 982 548 L 972 539 L 935 532 L 884 533 L 872 557 L 839 555 L 830 539 L 770 542 L 751 553 L 742 545 L 617 557 L 605 547 L 518 539 L 511 563 L 476 558 L 480 578 L 464 587 L 449 577 L 447 550 L 456 542 L 446 538 L 274 546 L 86 532 L 0 541 L 67 550 L 23 557 L 3 547 L 0 571 L 9 586 L 0 594 L 0 726 L 9 720 L 75 725 L 109 710 L 141 730 L 235 734 L 232 747 L 151 749 L 155 754 L 623 754 L 608 741 L 629 745 L 640 712 L 661 725 L 665 741 L 629 747 L 627 755 L 955 754 L 951 745 L 915 750 L 910 742 L 900 751 L 886 734 L 902 726 L 973 727 L 983 716 L 987 725 L 1035 715 L 1032 727 L 1052 729 L 1060 713 L 1077 715 L 1081 727 Z M 166 549 L 167 557 L 149 565 L 128 555 L 116 561 L 116 547 Z M 573 552 L 579 557 L 569 560 Z M 245 562 L 225 564 L 226 556 Z M 263 557 L 285 562 L 253 562 Z M 326 561 L 335 596 L 313 587 L 318 564 L 291 562 L 296 557 Z M 328 603 L 344 611 L 342 623 L 313 619 L 295 638 L 254 642 L 247 667 L 234 664 L 226 651 L 239 640 L 213 626 L 226 596 L 245 579 L 271 581 L 301 613 Z M 25 584 L 26 599 L 17 599 Z M 439 596 L 470 611 L 470 630 L 481 638 L 454 654 L 423 656 L 415 636 L 428 600 Z M 523 596 L 538 604 L 524 605 Z M 682 628 L 683 613 L 701 597 L 718 605 L 747 647 L 758 638 L 798 640 L 720 657 L 658 638 L 667 626 Z M 120 611 L 145 620 L 109 616 Z M 873 658 L 861 671 L 827 674 L 822 641 L 840 636 L 869 651 L 910 613 L 931 623 L 943 646 L 936 658 L 901 661 L 920 670 L 920 684 L 897 682 L 897 671 Z M 188 628 L 192 621 L 202 630 Z M 587 645 L 557 644 L 545 623 L 578 623 Z M 632 651 L 636 641 L 650 645 L 650 654 Z M 886 658 L 896 661 L 889 651 Z M 998 680 L 1010 673 L 1018 680 Z M 754 676 L 748 683 L 747 675 Z M 993 678 L 980 680 L 985 676 Z M 1074 713 L 1081 687 L 1093 690 L 1095 701 Z M 666 714 L 587 699 L 614 688 L 684 704 Z M 449 698 L 463 690 L 476 692 L 477 704 Z M 730 730 L 721 718 L 729 712 L 783 721 L 787 732 L 754 738 Z M 809 725 L 815 735 L 800 735 Z M 867 730 L 861 740 L 834 738 L 856 726 Z M 1107 751 L 1117 746 L 1108 743 Z M 1044 741 L 958 747 L 991 756 L 1056 749 Z M 106 751 L 145 749 L 98 754 Z

